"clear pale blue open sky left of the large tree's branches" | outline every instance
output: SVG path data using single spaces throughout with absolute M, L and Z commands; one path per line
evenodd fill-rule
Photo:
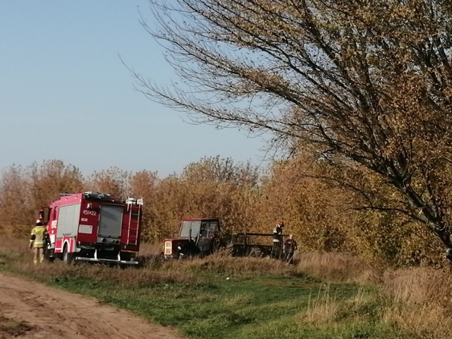
M 261 138 L 187 124 L 133 90 L 119 54 L 157 83 L 172 76 L 138 6 L 148 13 L 145 0 L 0 0 L 0 171 L 52 159 L 159 177 L 203 156 L 261 164 Z

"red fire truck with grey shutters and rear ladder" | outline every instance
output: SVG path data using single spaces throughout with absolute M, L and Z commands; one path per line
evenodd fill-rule
M 99 192 L 60 196 L 41 210 L 50 259 L 138 264 L 143 199 Z

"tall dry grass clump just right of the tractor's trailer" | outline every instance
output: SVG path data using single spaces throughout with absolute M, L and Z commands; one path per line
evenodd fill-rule
M 383 266 L 367 263 L 352 254 L 312 252 L 300 254 L 298 270 L 344 283 L 369 283 L 381 280 Z

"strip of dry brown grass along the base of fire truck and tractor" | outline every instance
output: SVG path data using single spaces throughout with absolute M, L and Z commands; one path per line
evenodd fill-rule
M 0 249 L 1 261 L 14 261 L 16 270 L 42 275 L 44 268 L 49 280 L 64 280 L 81 278 L 87 280 L 109 280 L 121 285 L 155 285 L 157 283 L 190 283 L 200 280 L 198 273 L 215 272 L 225 275 L 276 274 L 290 275 L 295 273 L 293 266 L 283 261 L 270 258 L 233 258 L 222 253 L 206 258 L 162 261 L 158 244 L 141 246 L 140 258 L 143 267 L 140 269 L 118 269 L 93 263 L 77 263 L 66 265 L 61 261 L 44 262 L 35 266 L 32 263 L 32 252 L 28 249 L 27 239 L 11 239 L 4 242 L 6 246 Z

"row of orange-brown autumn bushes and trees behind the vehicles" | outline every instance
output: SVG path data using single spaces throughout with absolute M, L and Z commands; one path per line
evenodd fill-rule
M 268 233 L 284 220 L 285 232 L 294 234 L 303 252 L 342 251 L 396 265 L 441 263 L 443 249 L 427 228 L 393 210 L 369 208 L 363 194 L 331 180 L 337 170 L 309 157 L 275 162 L 268 172 L 249 163 L 203 158 L 165 178 L 117 167 L 84 177 L 59 160 L 13 165 L 0 177 L 0 233 L 28 234 L 37 210 L 60 193 L 102 191 L 143 197 L 148 242 L 173 237 L 182 218 L 220 218 L 228 233 Z M 396 194 L 382 191 L 378 177 L 365 169 L 342 173 L 366 184 L 374 200 Z

